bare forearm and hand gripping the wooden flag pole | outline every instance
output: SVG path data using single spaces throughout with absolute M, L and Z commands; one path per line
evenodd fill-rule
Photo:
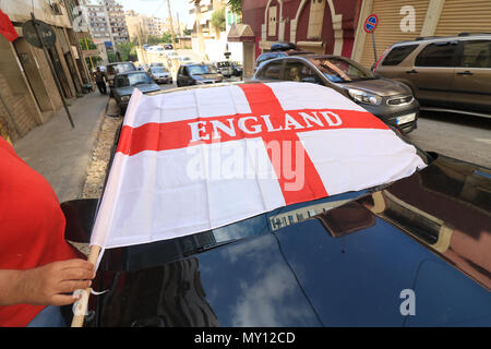
M 0 305 L 67 305 L 72 293 L 91 286 L 94 265 L 84 260 L 50 263 L 26 270 L 0 270 Z

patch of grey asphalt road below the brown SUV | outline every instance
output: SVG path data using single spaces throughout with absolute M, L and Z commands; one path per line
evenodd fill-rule
M 491 119 L 424 111 L 407 136 L 423 151 L 491 168 Z

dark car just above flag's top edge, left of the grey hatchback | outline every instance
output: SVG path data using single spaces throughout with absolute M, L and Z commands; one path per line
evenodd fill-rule
M 179 67 L 177 73 L 178 87 L 220 83 L 224 76 L 218 73 L 215 67 L 206 63 L 189 63 Z

